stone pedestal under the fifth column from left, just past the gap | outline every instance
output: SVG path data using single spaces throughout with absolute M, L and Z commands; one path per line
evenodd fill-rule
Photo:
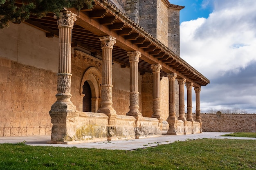
M 167 119 L 169 130 L 166 135 L 184 135 L 184 121 Z

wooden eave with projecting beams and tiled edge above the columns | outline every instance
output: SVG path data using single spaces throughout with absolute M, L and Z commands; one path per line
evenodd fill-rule
M 101 55 L 100 36 L 112 35 L 117 43 L 113 49 L 113 60 L 123 66 L 130 66 L 127 51 L 140 51 L 139 72 L 152 72 L 151 64 L 161 64 L 161 76 L 176 73 L 177 78 L 185 78 L 195 87 L 206 86 L 209 80 L 186 63 L 180 56 L 168 49 L 153 35 L 131 20 L 115 5 L 107 0 L 94 0 L 92 9 L 68 9 L 77 14 L 72 29 L 72 45 L 79 46 L 91 53 Z M 58 26 L 53 13 L 38 19 L 31 15 L 28 24 L 48 35 L 58 37 Z M 50 33 L 50 34 L 49 34 Z

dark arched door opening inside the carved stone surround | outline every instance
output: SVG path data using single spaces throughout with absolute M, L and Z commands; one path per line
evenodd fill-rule
M 92 111 L 92 91 L 90 88 L 90 84 L 85 81 L 83 84 L 83 112 L 91 112 Z

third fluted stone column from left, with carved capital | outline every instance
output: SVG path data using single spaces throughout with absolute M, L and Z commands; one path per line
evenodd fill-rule
M 139 51 L 128 51 L 130 61 L 130 111 L 128 116 L 141 116 L 139 112 Z

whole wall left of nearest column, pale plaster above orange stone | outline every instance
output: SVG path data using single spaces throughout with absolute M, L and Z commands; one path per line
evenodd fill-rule
M 58 38 L 27 24 L 0 30 L 0 136 L 50 135 Z

